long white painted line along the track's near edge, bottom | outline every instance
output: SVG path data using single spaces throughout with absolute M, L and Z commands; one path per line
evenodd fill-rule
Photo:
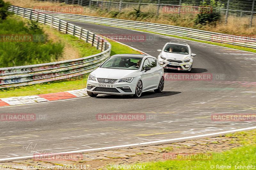
M 166 139 L 166 140 L 159 140 L 159 141 L 152 141 L 152 142 L 143 142 L 143 143 L 137 143 L 137 144 L 125 144 L 125 145 L 109 146 L 109 147 L 103 147 L 103 148 L 94 148 L 94 149 L 85 149 L 85 150 L 70 151 L 70 152 L 51 153 L 51 155 L 67 154 L 67 153 L 78 153 L 78 152 L 87 152 L 87 151 L 99 151 L 99 150 L 105 150 L 105 149 L 115 149 L 115 148 L 145 145 L 145 144 L 157 144 L 157 143 L 161 143 L 161 142 L 170 142 L 170 141 L 175 141 L 175 140 L 191 139 L 191 138 L 196 138 L 196 137 L 222 135 L 222 134 L 227 134 L 227 133 L 242 131 L 242 130 L 249 130 L 249 129 L 256 129 L 256 126 L 249 127 L 249 128 L 228 130 L 228 131 L 223 131 L 223 132 L 215 132 L 215 133 L 204 134 L 204 135 L 196 135 L 196 136 L 190 136 L 190 137 L 179 137 L 179 138 L 174 138 L 174 139 Z M 37 155 L 37 156 L 44 156 L 44 154 Z M 28 158 L 33 158 L 33 155 L 12 157 L 12 158 L 2 158 L 2 159 L 0 159 L 0 161 L 10 161 L 10 160 L 14 160 L 14 159 L 28 159 Z

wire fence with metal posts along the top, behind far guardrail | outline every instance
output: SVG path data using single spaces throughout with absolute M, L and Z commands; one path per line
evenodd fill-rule
M 77 4 L 80 6 L 95 7 L 101 10 L 108 11 L 123 11 L 125 9 L 131 10 L 146 9 L 147 11 L 154 11 L 156 15 L 160 12 L 164 12 L 166 7 L 178 6 L 177 13 L 180 14 L 181 6 L 195 7 L 199 6 L 202 2 L 209 2 L 210 0 L 40 0 L 54 3 L 65 4 Z M 216 0 L 217 1 L 217 0 Z M 240 17 L 250 16 L 249 26 L 252 26 L 253 15 L 256 14 L 255 0 L 220 0 L 222 5 L 220 7 L 220 13 L 225 16 L 225 24 L 229 14 L 235 14 Z M 144 10 L 145 11 L 145 10 Z

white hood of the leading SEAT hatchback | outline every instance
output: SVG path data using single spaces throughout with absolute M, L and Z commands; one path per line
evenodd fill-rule
M 138 70 L 128 70 L 128 69 L 107 69 L 101 68 L 92 71 L 91 75 L 96 78 L 113 78 L 113 79 L 121 79 L 121 78 L 129 78 L 133 77 Z

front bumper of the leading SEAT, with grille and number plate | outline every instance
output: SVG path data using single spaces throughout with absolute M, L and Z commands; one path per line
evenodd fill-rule
M 87 80 L 87 91 L 96 94 L 115 94 L 115 95 L 133 95 L 135 94 L 135 87 L 137 82 L 133 83 L 99 83 L 97 81 Z

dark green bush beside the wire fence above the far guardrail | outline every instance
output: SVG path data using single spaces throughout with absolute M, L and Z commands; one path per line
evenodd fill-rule
M 199 14 L 196 15 L 194 23 L 206 25 L 206 24 L 213 24 L 216 26 L 216 22 L 220 20 L 220 8 L 223 7 L 223 4 L 217 0 L 210 0 L 209 3 L 201 2 L 202 10 Z M 211 8 L 211 12 L 207 11 L 206 9 Z M 205 9 L 205 10 L 204 10 Z

